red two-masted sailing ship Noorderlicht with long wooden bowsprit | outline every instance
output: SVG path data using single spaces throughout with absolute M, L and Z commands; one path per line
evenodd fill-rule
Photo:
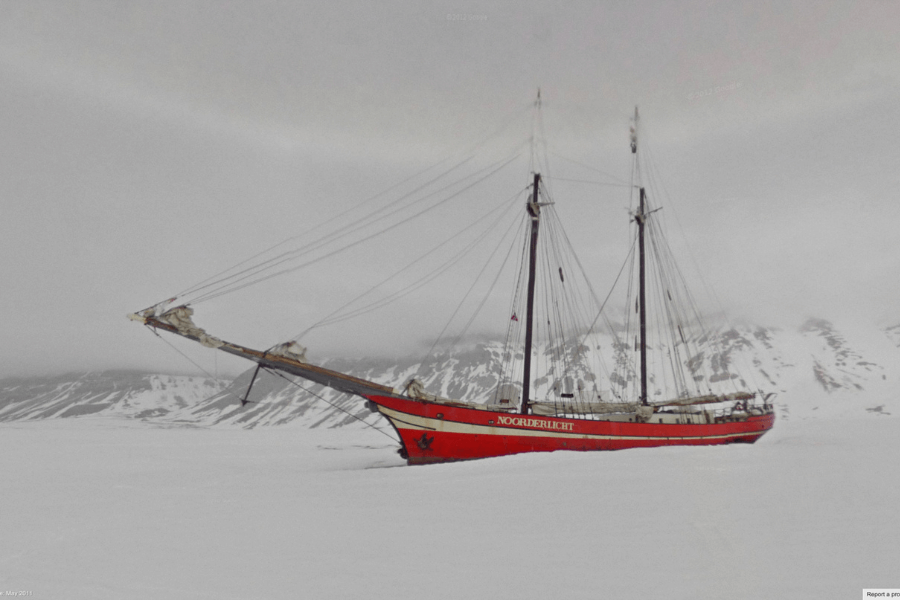
M 536 104 L 539 107 L 540 95 Z M 635 161 L 638 154 L 637 125 L 638 113 L 635 109 L 631 129 L 631 153 Z M 543 268 L 544 272 L 551 270 L 554 276 L 556 273 L 555 267 L 546 266 L 544 263 L 548 261 L 539 256 L 539 241 L 542 234 L 546 236 L 542 232 L 542 224 L 545 215 L 552 212 L 553 202 L 547 197 L 540 173 L 531 173 L 530 180 L 524 211 L 526 225 L 521 261 L 524 276 L 520 277 L 521 286 L 516 293 L 518 304 L 514 303 L 514 308 L 521 306 L 521 309 L 512 312 L 508 328 L 509 331 L 515 329 L 524 333 L 523 347 L 518 350 L 507 348 L 506 358 L 510 364 L 518 361 L 518 366 L 505 368 L 506 375 L 497 380 L 494 392 L 481 402 L 443 398 L 430 393 L 416 379 L 402 388 L 395 388 L 317 366 L 307 361 L 305 349 L 296 341 L 281 343 L 267 350 L 223 341 L 194 324 L 190 305 L 169 308 L 177 298 L 129 317 L 153 330 L 170 332 L 257 363 L 250 387 L 260 369 L 265 369 L 298 376 L 361 397 L 369 409 L 386 418 L 396 431 L 400 443 L 398 451 L 409 464 L 558 450 L 753 443 L 771 429 L 775 420 L 770 402 L 772 394 L 739 386 L 726 392 L 703 388 L 712 378 L 704 379 L 696 374 L 696 365 L 702 357 L 688 350 L 689 338 L 694 337 L 688 331 L 690 319 L 670 306 L 674 304 L 674 296 L 678 295 L 673 292 L 671 278 L 663 278 L 663 287 L 656 293 L 665 305 L 663 312 L 676 317 L 675 324 L 669 330 L 676 349 L 668 351 L 666 361 L 675 367 L 676 372 L 687 371 L 688 376 L 674 376 L 676 380 L 681 378 L 681 385 L 670 396 L 660 397 L 662 392 L 658 390 L 651 394 L 651 384 L 659 382 L 648 373 L 651 362 L 648 358 L 648 262 L 652 256 L 660 256 L 660 246 L 658 241 L 648 244 L 648 236 L 653 231 L 655 213 L 659 208 L 650 206 L 647 191 L 639 182 L 630 184 L 636 197 L 636 207 L 630 219 L 636 226 L 636 251 L 632 249 L 629 254 L 632 262 L 637 263 L 637 289 L 633 298 L 638 317 L 637 323 L 633 324 L 636 334 L 633 354 L 637 368 L 628 367 L 629 373 L 625 377 L 610 376 L 611 381 L 621 384 L 620 389 L 622 386 L 629 387 L 634 394 L 628 398 L 623 393 L 602 391 L 594 376 L 572 377 L 573 370 L 581 368 L 584 362 L 573 361 L 571 356 L 590 345 L 587 343 L 590 339 L 588 333 L 569 346 L 568 366 L 560 369 L 556 373 L 555 383 L 542 388 L 543 396 L 537 397 L 539 386 L 533 381 L 532 363 L 538 303 L 536 286 L 540 278 L 538 271 Z M 667 260 L 665 256 L 663 262 Z M 562 266 L 558 275 L 558 285 L 563 285 L 565 277 Z M 559 306 L 558 303 L 550 304 Z M 547 323 L 549 327 L 550 320 L 541 320 L 540 323 Z M 564 328 L 557 329 L 561 331 Z M 630 334 L 626 332 L 622 337 L 624 335 Z M 708 333 L 703 335 L 707 340 L 711 337 Z M 521 337 L 521 334 L 517 337 L 508 332 L 507 341 L 515 342 Z M 630 343 L 617 341 L 618 354 L 621 356 L 626 350 L 631 350 Z M 562 353 L 565 354 L 565 351 Z M 512 378 L 518 378 L 518 382 L 511 381 Z M 733 375 L 725 379 L 732 386 L 736 385 L 735 380 L 745 383 Z M 586 389 L 590 387 L 584 385 L 586 381 L 593 382 L 593 389 Z M 249 391 L 250 388 L 242 404 L 247 402 Z

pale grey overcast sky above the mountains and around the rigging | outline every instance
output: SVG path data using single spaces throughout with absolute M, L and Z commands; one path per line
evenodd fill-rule
M 196 370 L 125 314 L 460 155 L 538 86 L 553 147 L 625 179 L 640 105 L 693 260 L 738 318 L 896 324 L 898 23 L 891 0 L 3 2 L 0 376 Z M 572 202 L 627 227 L 624 201 Z M 247 309 L 232 341 L 302 331 L 358 291 L 353 268 L 226 303 Z M 378 326 L 318 341 L 429 335 Z

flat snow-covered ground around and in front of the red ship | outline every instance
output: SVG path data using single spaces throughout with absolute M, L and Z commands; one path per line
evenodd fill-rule
M 347 427 L 0 424 L 0 590 L 818 600 L 900 587 L 896 416 L 779 421 L 753 446 L 428 467 L 394 448 Z

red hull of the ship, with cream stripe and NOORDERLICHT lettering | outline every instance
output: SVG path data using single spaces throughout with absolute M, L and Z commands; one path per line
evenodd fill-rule
M 775 415 L 735 417 L 723 422 L 587 420 L 459 408 L 395 396 L 368 395 L 396 428 L 410 464 L 471 460 L 522 452 L 622 450 L 654 446 L 753 443 L 775 423 Z M 683 421 L 688 419 L 684 416 Z

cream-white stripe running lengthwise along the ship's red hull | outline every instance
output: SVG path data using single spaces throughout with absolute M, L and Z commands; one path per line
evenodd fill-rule
M 765 431 L 732 432 L 718 435 L 604 435 L 591 433 L 562 433 L 540 429 L 520 429 L 518 427 L 497 427 L 496 425 L 475 425 L 443 419 L 429 419 L 379 405 L 379 410 L 388 417 L 397 429 L 419 431 L 442 431 L 445 433 L 467 433 L 473 435 L 509 435 L 516 437 L 553 437 L 575 440 L 715 440 L 748 435 L 762 435 Z

